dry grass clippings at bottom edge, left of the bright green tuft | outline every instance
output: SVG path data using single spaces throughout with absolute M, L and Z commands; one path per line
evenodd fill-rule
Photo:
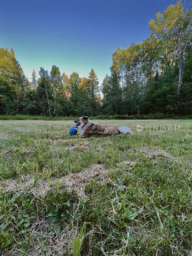
M 68 255 L 68 252 L 72 251 L 72 237 L 78 235 L 78 231 L 74 227 L 70 227 L 67 222 L 61 224 L 60 237 L 56 236 L 56 226 L 48 222 L 46 216 L 42 216 L 41 219 L 34 220 L 28 232 L 32 235 L 27 252 L 24 252 L 18 248 L 9 248 L 9 251 L 4 250 L 2 256 L 18 256 L 18 255 L 30 255 L 30 256 L 64 256 Z M 26 232 L 26 238 L 28 238 L 28 232 Z

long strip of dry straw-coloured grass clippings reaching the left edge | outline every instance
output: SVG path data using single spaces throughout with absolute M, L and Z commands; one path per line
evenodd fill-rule
M 0 182 L 0 189 L 6 191 L 16 192 L 29 192 L 34 196 L 45 196 L 52 189 L 65 187 L 68 192 L 74 190 L 78 196 L 86 197 L 84 193 L 85 184 L 95 176 L 99 175 L 104 178 L 107 171 L 102 164 L 93 164 L 91 168 L 86 169 L 79 173 L 70 173 L 65 177 L 59 179 L 39 180 L 36 182 L 34 188 L 34 177 L 30 174 L 22 176 L 20 180 L 9 179 Z M 15 195 L 17 196 L 17 195 Z

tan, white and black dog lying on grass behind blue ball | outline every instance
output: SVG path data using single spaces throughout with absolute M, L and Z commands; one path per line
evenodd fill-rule
M 79 125 L 79 137 L 89 136 L 96 132 L 106 135 L 115 135 L 121 133 L 115 125 L 96 124 L 91 122 L 87 116 L 79 117 L 74 122 L 77 126 Z

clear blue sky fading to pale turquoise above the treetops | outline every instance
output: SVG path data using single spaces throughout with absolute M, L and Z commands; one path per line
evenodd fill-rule
M 169 0 L 0 0 L 0 46 L 13 47 L 31 77 L 52 65 L 70 76 L 88 77 L 93 68 L 100 84 L 110 75 L 112 53 L 149 36 L 148 21 L 175 1 Z

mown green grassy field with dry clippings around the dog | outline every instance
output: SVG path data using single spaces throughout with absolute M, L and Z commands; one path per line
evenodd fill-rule
M 73 121 L 0 121 L 0 254 L 192 255 L 192 120 L 95 122 L 133 135 L 82 139 L 68 135 Z

